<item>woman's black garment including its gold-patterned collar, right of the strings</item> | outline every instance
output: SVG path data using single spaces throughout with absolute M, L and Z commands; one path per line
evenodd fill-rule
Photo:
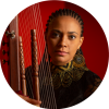
M 50 63 L 58 109 L 82 104 L 100 86 L 100 77 L 86 66 L 76 68 L 73 60 L 65 65 Z

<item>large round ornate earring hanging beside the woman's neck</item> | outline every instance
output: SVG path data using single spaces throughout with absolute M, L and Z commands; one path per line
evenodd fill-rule
M 80 49 L 77 49 L 77 55 L 73 58 L 73 66 L 81 68 L 85 64 L 85 59 L 83 55 L 80 53 Z

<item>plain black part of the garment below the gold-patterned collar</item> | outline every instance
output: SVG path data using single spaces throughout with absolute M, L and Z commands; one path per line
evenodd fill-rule
M 58 109 L 68 109 L 82 104 L 89 98 L 101 84 L 100 77 L 92 71 L 85 71 L 78 81 L 73 81 L 69 87 L 55 89 Z

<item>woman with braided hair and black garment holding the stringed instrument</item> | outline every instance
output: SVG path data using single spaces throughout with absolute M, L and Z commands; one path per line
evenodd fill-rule
M 89 98 L 100 86 L 101 80 L 86 68 L 82 56 L 84 37 L 81 16 L 68 9 L 56 11 L 48 20 L 45 39 L 51 58 L 57 108 L 68 109 Z M 22 99 L 25 97 L 22 96 Z M 35 105 L 33 99 L 29 101 Z

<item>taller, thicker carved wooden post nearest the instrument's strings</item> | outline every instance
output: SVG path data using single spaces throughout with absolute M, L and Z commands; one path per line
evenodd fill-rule
M 31 35 L 32 35 L 33 94 L 34 94 L 34 99 L 39 100 L 40 97 L 39 97 L 39 78 L 38 78 L 38 59 L 37 59 L 36 29 L 32 29 L 31 31 Z

